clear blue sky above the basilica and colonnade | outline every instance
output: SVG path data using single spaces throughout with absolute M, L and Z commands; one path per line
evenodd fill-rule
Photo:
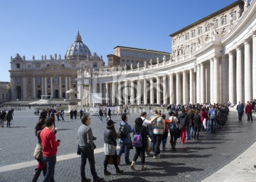
M 80 31 L 82 41 L 103 56 L 117 45 L 171 52 L 174 33 L 235 0 L 8 0 L 0 6 L 0 81 L 10 81 L 16 53 L 64 58 Z

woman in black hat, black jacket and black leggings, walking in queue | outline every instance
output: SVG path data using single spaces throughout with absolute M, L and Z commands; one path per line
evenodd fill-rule
M 114 123 L 112 120 L 107 121 L 107 129 L 104 131 L 104 152 L 105 152 L 105 160 L 104 160 L 104 174 L 110 175 L 111 173 L 107 171 L 107 162 L 112 157 L 114 167 L 116 168 L 116 172 L 122 173 L 124 171 L 120 170 L 117 164 L 117 132 L 114 129 Z

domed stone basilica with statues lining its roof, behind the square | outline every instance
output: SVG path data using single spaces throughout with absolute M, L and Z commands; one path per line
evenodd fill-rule
M 11 94 L 12 100 L 35 100 L 41 95 L 48 95 L 51 99 L 66 97 L 67 90 L 77 90 L 77 74 L 81 68 L 99 70 L 105 62 L 102 56 L 91 53 L 82 43 L 80 33 L 75 42 L 68 47 L 65 58 L 61 55 L 42 55 L 41 59 L 26 60 L 25 56 L 16 54 L 11 57 Z

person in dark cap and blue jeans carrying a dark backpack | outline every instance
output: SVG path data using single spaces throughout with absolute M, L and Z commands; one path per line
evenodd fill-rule
M 121 119 L 122 119 L 121 125 L 124 126 L 124 131 L 127 134 L 127 137 L 125 137 L 124 139 L 122 138 L 119 139 L 120 149 L 117 155 L 122 156 L 122 154 L 124 153 L 125 164 L 131 165 L 132 162 L 129 161 L 129 151 L 132 146 L 132 140 L 130 135 L 130 133 L 132 133 L 132 127 L 130 124 L 127 123 L 128 121 L 127 114 L 125 113 L 122 114 Z

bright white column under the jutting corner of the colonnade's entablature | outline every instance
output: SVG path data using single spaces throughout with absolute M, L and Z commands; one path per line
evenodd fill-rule
M 213 93 L 214 93 L 214 99 L 213 102 L 217 103 L 220 99 L 220 92 L 219 92 L 219 83 L 220 83 L 220 77 L 219 77 L 219 60 L 217 57 L 213 58 Z

